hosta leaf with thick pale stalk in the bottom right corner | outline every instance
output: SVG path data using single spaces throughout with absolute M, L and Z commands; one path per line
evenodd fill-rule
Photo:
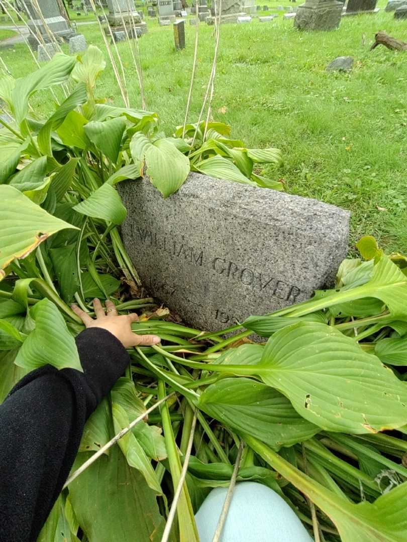
M 275 451 L 249 435 L 246 443 L 334 522 L 342 542 L 403 542 L 407 540 L 407 482 L 376 501 L 354 504 L 329 491 L 293 467 Z

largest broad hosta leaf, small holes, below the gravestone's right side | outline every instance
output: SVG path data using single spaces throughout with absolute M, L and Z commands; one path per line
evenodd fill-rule
M 352 338 L 325 324 L 277 331 L 257 367 L 309 422 L 328 431 L 371 433 L 407 423 L 407 385 Z

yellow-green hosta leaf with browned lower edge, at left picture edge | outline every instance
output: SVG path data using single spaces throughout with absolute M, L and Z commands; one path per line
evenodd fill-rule
M 64 228 L 75 228 L 49 215 L 19 190 L 0 186 L 0 280 L 2 269 L 30 254 L 42 241 Z

